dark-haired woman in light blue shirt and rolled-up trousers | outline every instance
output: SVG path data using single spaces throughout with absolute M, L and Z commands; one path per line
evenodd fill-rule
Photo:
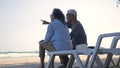
M 65 23 L 65 16 L 60 9 L 53 9 L 51 14 L 51 23 L 48 25 L 46 36 L 44 40 L 39 42 L 39 57 L 41 61 L 41 68 L 44 68 L 45 50 L 60 51 L 73 49 L 72 41 L 69 35 L 67 24 Z M 61 63 L 66 65 L 69 58 L 62 60 Z

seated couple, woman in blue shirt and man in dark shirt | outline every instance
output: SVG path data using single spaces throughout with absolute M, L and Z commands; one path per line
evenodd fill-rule
M 60 51 L 75 49 L 78 45 L 87 45 L 87 38 L 82 24 L 77 20 L 77 12 L 74 9 L 68 10 L 67 22 L 63 12 L 54 8 L 50 16 L 51 23 L 49 23 L 46 36 L 44 40 L 39 42 L 39 57 L 41 61 L 41 68 L 44 68 L 45 50 Z M 45 23 L 46 21 L 44 21 Z M 46 22 L 48 23 L 48 22 Z M 68 28 L 71 28 L 69 34 Z M 68 63 L 68 56 L 59 56 L 62 66 L 58 68 L 65 68 Z

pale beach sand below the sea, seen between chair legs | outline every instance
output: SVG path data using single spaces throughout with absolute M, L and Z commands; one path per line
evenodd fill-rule
M 104 62 L 106 55 L 100 55 L 102 62 Z M 86 56 L 80 56 L 83 61 L 85 62 Z M 114 56 L 114 62 L 117 62 L 118 56 Z M 49 57 L 45 57 L 45 64 L 47 64 Z M 55 57 L 55 68 L 57 68 L 60 64 L 59 57 Z M 111 64 L 112 66 L 112 64 Z M 40 61 L 39 57 L 12 57 L 7 59 L 0 60 L 0 68 L 39 68 Z M 79 68 L 77 63 L 74 63 L 73 68 Z M 97 68 L 94 64 L 94 68 Z M 114 68 L 114 67 L 112 67 Z

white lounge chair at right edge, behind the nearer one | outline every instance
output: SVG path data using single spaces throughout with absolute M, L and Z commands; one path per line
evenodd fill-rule
M 112 57 L 113 55 L 120 55 L 120 48 L 116 48 L 118 40 L 120 40 L 120 36 L 117 36 L 113 38 L 113 42 L 111 43 L 111 46 L 109 49 L 99 49 L 98 54 L 107 54 L 107 58 L 104 63 L 104 68 L 109 68 L 110 62 L 113 62 Z M 119 65 L 120 58 L 118 58 L 118 63 Z M 117 66 L 113 63 L 114 66 Z

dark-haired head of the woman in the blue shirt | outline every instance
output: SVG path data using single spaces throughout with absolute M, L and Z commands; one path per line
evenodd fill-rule
M 65 25 L 65 16 L 60 9 L 54 8 L 51 14 L 51 20 L 59 19 Z

